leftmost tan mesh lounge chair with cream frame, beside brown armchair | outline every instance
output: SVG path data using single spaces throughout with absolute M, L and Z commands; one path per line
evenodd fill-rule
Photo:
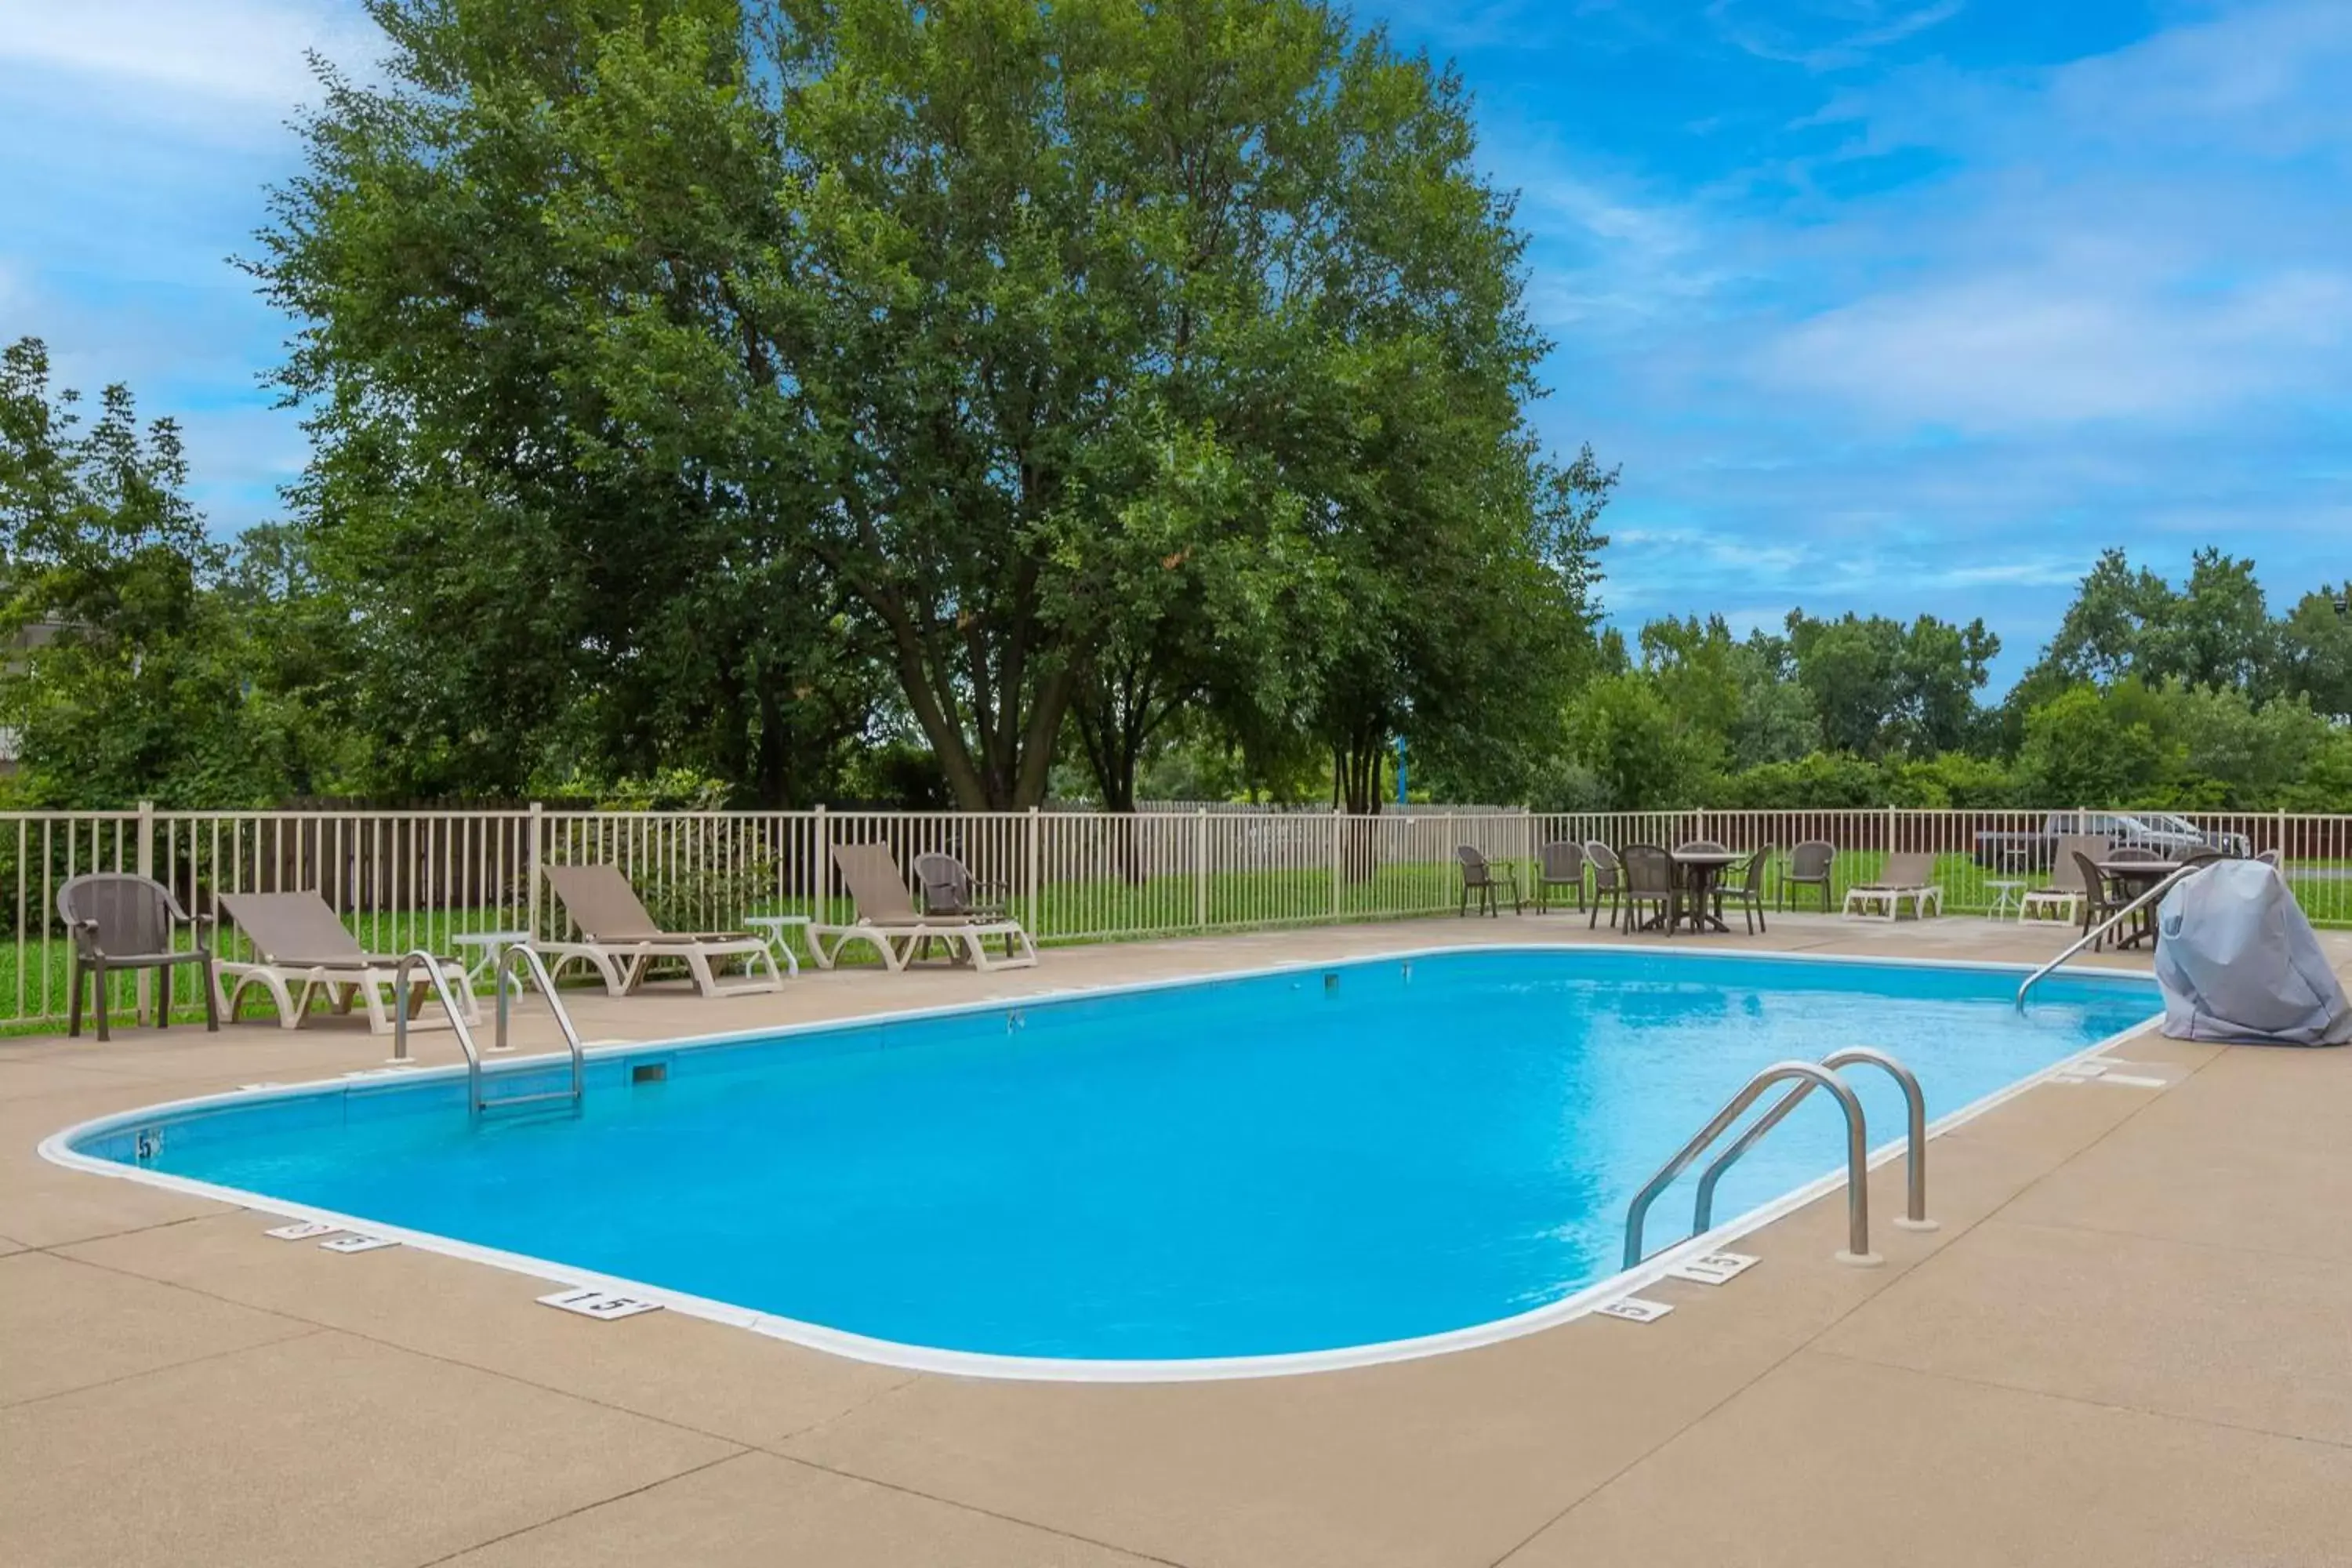
M 259 985 L 278 1004 L 280 1030 L 299 1030 L 310 1016 L 310 1001 L 327 997 L 327 1006 L 336 1013 L 348 1013 L 353 1001 L 367 1004 L 367 1027 L 374 1034 L 393 1032 L 393 1013 L 386 1001 L 395 1001 L 393 973 L 400 969 L 400 957 L 360 947 L 360 940 L 343 929 L 325 898 L 318 893 L 221 893 L 219 903 L 254 950 L 249 961 L 221 959 L 214 966 L 223 1013 L 235 1018 L 245 987 Z M 435 964 L 461 999 L 466 1023 L 480 1023 L 482 1013 L 475 1009 L 466 966 L 454 959 L 435 959 Z M 428 980 L 412 976 L 409 1027 L 449 1027 L 447 1020 L 419 1023 L 428 990 Z

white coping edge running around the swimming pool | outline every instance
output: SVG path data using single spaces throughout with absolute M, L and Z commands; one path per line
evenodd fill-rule
M 1023 1004 L 1049 1004 L 1049 1001 L 1077 1001 L 1094 997 L 1117 997 L 1134 992 L 1171 990 L 1181 985 L 1202 985 L 1216 980 L 1263 980 L 1289 973 L 1317 973 L 1329 969 L 1350 969 L 1362 964 L 1392 964 L 1428 957 L 1449 954 L 1508 954 L 1508 952 L 1642 952 L 1677 959 L 1724 959 L 1724 957 L 1759 957 L 1759 959 L 1788 959 L 1799 964 L 1842 964 L 1849 969 L 1976 969 L 1976 971 L 2002 971 L 2002 973 L 2032 973 L 2030 964 L 2004 964 L 1994 959 L 1886 959 L 1867 954 L 1828 954 L 1828 952 L 1785 952 L 1785 950 L 1738 950 L 1726 952 L 1722 947 L 1635 947 L 1628 950 L 1618 943 L 1456 943 L 1437 947 L 1409 947 L 1397 952 L 1371 952 L 1352 954 L 1343 959 L 1315 959 L 1296 964 L 1268 964 L 1258 969 L 1223 969 L 1192 976 L 1162 976 L 1155 980 L 1129 980 L 1120 985 L 1082 985 L 1065 990 L 1023 992 L 1018 997 L 990 997 L 981 1001 L 955 1001 L 927 1009 L 901 1009 L 889 1013 L 858 1013 L 851 1018 L 826 1018 L 814 1023 L 793 1023 L 755 1030 L 729 1030 L 722 1034 L 694 1034 L 687 1039 L 647 1039 L 609 1046 L 590 1046 L 583 1051 L 590 1060 L 616 1058 L 616 1056 L 644 1056 L 644 1053 L 673 1053 L 694 1051 L 724 1044 L 743 1044 L 753 1039 L 788 1039 L 795 1034 L 816 1034 L 828 1030 L 856 1030 L 875 1027 L 889 1023 L 913 1023 L 922 1018 L 955 1018 L 964 1013 L 988 1013 L 1002 1009 L 1018 1009 Z M 2096 976 L 2107 980 L 2150 980 L 2145 971 L 2136 969 L 2105 969 L 2105 966 L 2082 966 L 2072 969 L 2072 976 Z M 1933 1143 L 1943 1133 L 1983 1117 L 1985 1112 L 2018 1098 L 2027 1088 L 2044 1084 L 2053 1077 L 2065 1074 L 2070 1067 L 2086 1063 L 2103 1051 L 2112 1051 L 2122 1041 L 2154 1027 L 2161 1023 L 2161 1013 L 2117 1030 L 2105 1039 L 2084 1046 L 2082 1051 L 2042 1067 L 2004 1088 L 1971 1100 L 1969 1105 L 1947 1112 L 1929 1124 L 1926 1135 Z M 499 1063 L 499 1072 L 522 1070 L 524 1063 L 550 1063 L 560 1060 L 560 1053 L 517 1056 Z M 748 1328 L 753 1333 L 769 1335 L 774 1340 L 788 1340 L 793 1345 L 804 1345 L 809 1349 L 821 1349 L 835 1356 L 847 1356 L 851 1361 L 870 1361 L 875 1366 L 896 1366 L 915 1373 L 938 1373 L 950 1378 L 995 1378 L 1014 1382 L 1221 1382 L 1232 1378 L 1296 1378 L 1303 1373 L 1336 1373 L 1359 1366 L 1383 1366 L 1388 1361 L 1418 1361 L 1423 1356 L 1444 1356 L 1458 1349 L 1477 1349 L 1482 1345 L 1501 1345 L 1503 1340 L 1517 1340 L 1555 1324 L 1566 1324 L 1578 1316 L 1590 1314 L 1623 1295 L 1632 1295 L 1644 1286 L 1665 1279 L 1677 1265 L 1724 1248 L 1726 1244 L 1780 1220 L 1806 1204 L 1837 1192 L 1846 1173 L 1844 1168 L 1828 1171 L 1816 1180 L 1785 1192 L 1778 1199 L 1759 1204 L 1748 1213 L 1740 1213 L 1715 1229 L 1691 1237 L 1677 1246 L 1665 1248 L 1644 1258 L 1637 1267 L 1609 1274 L 1583 1291 L 1559 1298 L 1557 1302 L 1545 1302 L 1543 1307 L 1531 1307 L 1529 1312 L 1517 1312 L 1512 1316 L 1494 1319 L 1486 1324 L 1472 1324 L 1470 1328 L 1449 1328 L 1444 1333 L 1418 1335 L 1409 1340 L 1378 1340 L 1371 1345 L 1348 1345 L 1343 1349 L 1308 1349 L 1270 1356 L 1195 1356 L 1174 1361 L 1087 1361 L 1065 1356 L 1000 1356 L 969 1349 L 938 1349 L 929 1345 L 903 1345 L 898 1340 L 875 1340 L 861 1333 L 847 1333 L 842 1328 L 826 1328 L 823 1324 L 807 1324 L 800 1319 L 776 1316 L 769 1312 L 755 1312 L 750 1307 L 736 1307 L 729 1302 L 710 1300 L 706 1295 L 689 1295 L 684 1291 L 670 1291 L 666 1286 L 644 1284 L 640 1279 L 623 1279 L 619 1274 L 597 1274 L 590 1269 L 579 1269 L 574 1265 L 553 1262 L 546 1258 L 532 1258 L 524 1253 L 508 1253 L 492 1246 L 480 1246 L 473 1241 L 459 1241 L 454 1237 L 442 1237 L 435 1232 L 405 1229 L 397 1225 L 379 1225 L 374 1220 L 362 1220 L 355 1215 L 336 1213 L 332 1208 L 313 1208 L 308 1204 L 289 1204 L 285 1199 L 273 1199 L 259 1192 L 245 1192 L 242 1187 L 219 1187 L 214 1182 L 200 1182 L 186 1175 L 169 1175 L 165 1171 L 143 1171 L 139 1166 L 127 1166 L 113 1159 L 99 1159 L 94 1154 L 82 1154 L 73 1145 L 99 1135 L 122 1131 L 146 1119 L 162 1119 L 174 1114 L 186 1114 L 195 1110 L 219 1110 L 228 1105 L 247 1105 L 259 1100 L 292 1100 L 306 1095 L 332 1093 L 353 1086 L 376 1086 L 376 1084 L 409 1084 L 430 1081 L 445 1077 L 461 1077 L 466 1072 L 463 1063 L 447 1067 L 414 1067 L 393 1070 L 388 1074 L 362 1074 L 362 1077 L 336 1077 L 336 1079 L 313 1079 L 308 1084 L 268 1084 L 256 1088 L 238 1088 L 228 1093 L 191 1095 L 186 1100 L 162 1100 L 155 1105 L 141 1105 L 129 1112 L 111 1112 L 103 1117 L 92 1117 L 78 1121 L 68 1128 L 49 1133 L 40 1140 L 40 1157 L 49 1164 L 64 1166 L 68 1171 L 82 1171 L 87 1175 L 108 1175 L 115 1180 L 143 1182 L 148 1187 L 162 1187 L 165 1192 L 179 1192 L 186 1197 L 209 1199 L 216 1204 L 230 1204 L 235 1208 L 252 1208 L 270 1215 L 287 1215 L 292 1220 L 310 1220 L 320 1225 L 334 1225 L 348 1232 L 362 1232 L 369 1237 L 388 1237 L 402 1246 L 414 1246 L 426 1253 L 440 1253 L 445 1258 L 463 1258 L 468 1262 L 482 1262 L 494 1269 L 506 1269 L 513 1274 L 527 1274 L 557 1286 L 579 1286 L 595 1291 L 612 1291 L 616 1295 L 633 1295 L 637 1300 L 659 1302 L 670 1312 L 682 1312 L 687 1316 L 708 1319 L 713 1324 L 727 1324 L 734 1328 Z M 1891 1159 L 1905 1154 L 1907 1140 L 1893 1138 L 1875 1150 L 1870 1150 L 1870 1168 L 1879 1168 Z

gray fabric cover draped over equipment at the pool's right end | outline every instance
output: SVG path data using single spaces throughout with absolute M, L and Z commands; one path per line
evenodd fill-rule
M 2293 891 L 2260 860 L 2220 860 L 2157 910 L 2157 983 L 2173 1039 L 2340 1046 L 2352 1004 Z

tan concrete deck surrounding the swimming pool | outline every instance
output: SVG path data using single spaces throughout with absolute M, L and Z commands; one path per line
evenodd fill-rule
M 1470 940 L 1621 938 L 1505 914 L 567 1001 L 588 1039 L 663 1039 Z M 2352 964 L 2352 938 L 2326 940 Z M 2058 943 L 1795 914 L 1708 940 L 2011 961 Z M 520 1039 L 553 1044 L 536 1004 Z M 456 1056 L 447 1034 L 419 1053 Z M 1936 1140 L 1943 1229 L 1882 1220 L 1879 1269 L 1830 1260 L 1830 1197 L 1748 1237 L 1764 1265 L 1736 1284 L 1646 1288 L 1677 1307 L 1656 1324 L 1145 1387 L 906 1373 L 677 1312 L 572 1319 L 520 1274 L 270 1241 L 263 1211 L 33 1152 L 106 1112 L 383 1056 L 341 1020 L 0 1041 L 0 1559 L 2352 1561 L 2352 1051 L 2114 1046 L 2161 1086 L 2042 1084 Z M 1872 1201 L 1900 1213 L 1898 1164 Z

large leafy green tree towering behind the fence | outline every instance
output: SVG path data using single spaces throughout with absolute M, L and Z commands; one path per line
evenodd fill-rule
M 256 270 L 419 778 L 703 736 L 793 797 L 880 670 L 964 806 L 1065 729 L 1122 799 L 1192 703 L 1385 738 L 1406 574 L 1477 632 L 1557 536 L 1461 87 L 1327 5 L 369 12 Z

